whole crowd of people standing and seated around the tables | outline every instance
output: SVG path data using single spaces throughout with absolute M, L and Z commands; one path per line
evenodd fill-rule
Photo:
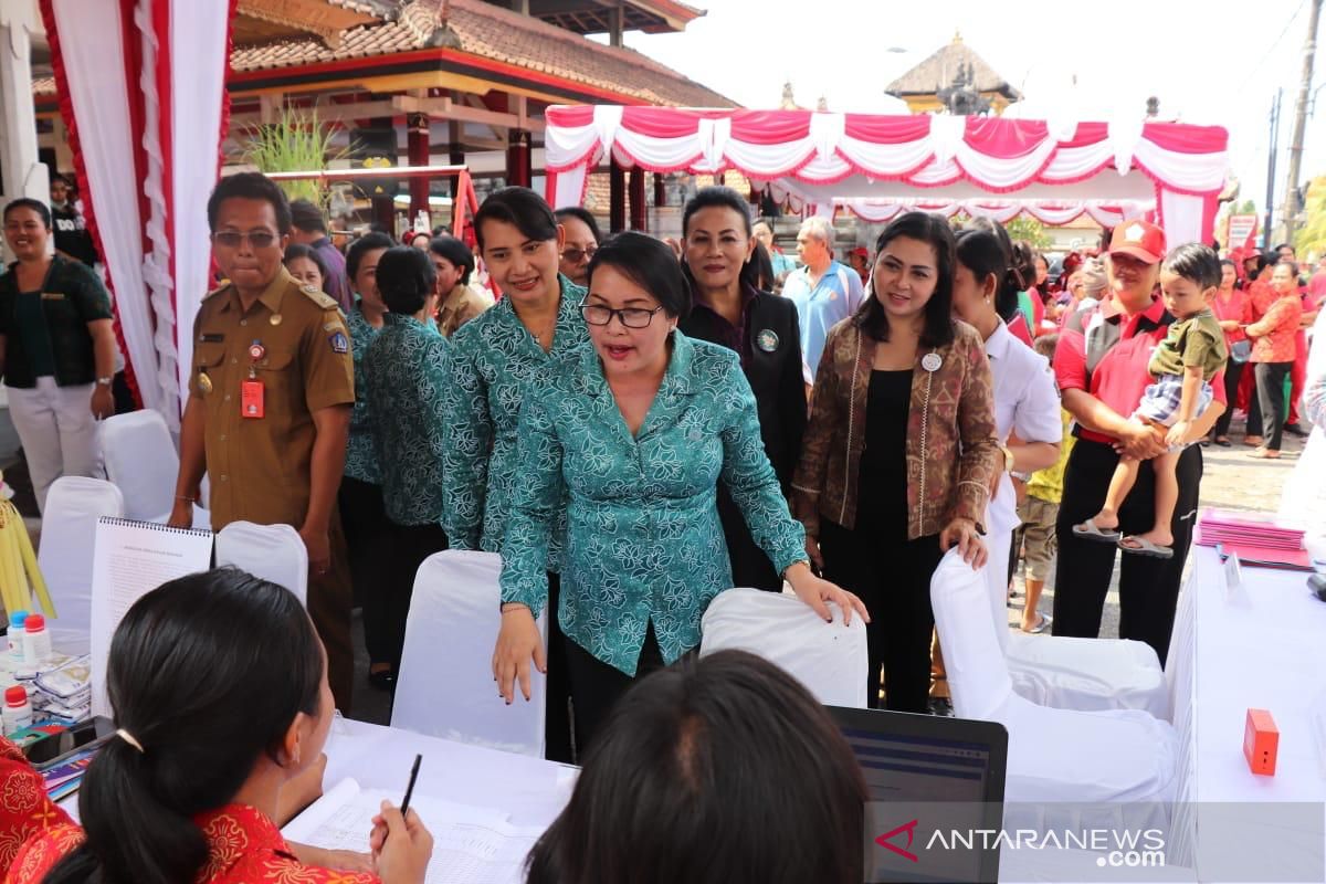
M 530 857 L 532 881 L 586 880 L 586 846 L 602 857 L 594 875 L 646 855 L 682 875 L 701 854 L 639 840 L 634 803 L 606 826 L 599 808 L 629 795 L 670 812 L 700 787 L 699 765 L 725 769 L 754 745 L 770 769 L 821 765 L 818 782 L 794 779 L 806 801 L 838 808 L 850 846 L 817 842 L 825 855 L 808 861 L 859 880 L 859 770 L 809 694 L 768 664 L 695 660 L 713 596 L 790 591 L 826 622 L 861 618 L 871 705 L 926 712 L 944 694 L 930 582 L 947 550 L 985 567 L 1000 628 L 1025 551 L 1021 627 L 1083 637 L 1099 634 L 1122 558 L 1119 635 L 1163 661 L 1197 443 L 1228 444 L 1254 376 L 1254 453 L 1278 455 L 1294 423 L 1285 379 L 1319 307 L 1305 306 L 1292 254 L 1221 264 L 1207 245 L 1170 248 L 1143 220 L 1098 254 L 1070 256 L 1058 288 L 1002 227 L 955 231 L 924 212 L 898 216 L 846 264 L 833 225 L 806 219 L 798 265 L 724 187 L 688 200 L 674 243 L 603 239 L 593 215 L 518 187 L 480 205 L 475 250 L 410 231 L 366 233 L 342 254 L 316 205 L 259 174 L 221 179 L 207 215 L 224 284 L 192 325 L 170 522 L 192 522 L 206 474 L 213 529 L 294 526 L 316 636 L 297 603 L 247 575 L 149 594 L 111 649 L 121 732 L 84 787 L 86 831 L 45 810 L 58 824 L 0 839 L 0 860 L 19 852 L 16 880 L 184 880 L 204 865 L 210 881 L 293 880 L 339 861 L 280 842 L 276 797 L 321 750 L 332 710 L 350 712 L 351 606 L 363 608 L 369 680 L 392 691 L 415 571 L 444 549 L 501 555 L 495 694 L 529 700 L 532 672 L 545 672 L 548 757 L 586 765 Z M 91 472 L 88 428 L 114 411 L 106 290 L 48 254 L 52 224 L 33 200 L 4 209 L 19 260 L 0 277 L 0 364 L 38 500 L 54 477 Z M 500 298 L 472 285 L 480 268 Z M 158 665 L 152 631 L 199 659 Z M 198 689 L 215 679 L 191 667 L 227 643 L 255 648 L 229 664 L 292 677 L 261 705 L 236 693 L 240 672 Z M 626 757 L 652 766 L 622 779 Z M 30 773 L 9 755 L 0 765 Z M 134 812 L 110 819 L 115 795 L 134 797 Z M 762 832 L 794 820 L 785 806 L 768 802 Z M 233 854 L 211 834 L 221 819 L 257 847 L 213 868 Z M 373 844 L 381 880 L 420 880 L 431 840 L 416 816 L 386 808 Z M 717 880 L 716 861 L 687 880 Z

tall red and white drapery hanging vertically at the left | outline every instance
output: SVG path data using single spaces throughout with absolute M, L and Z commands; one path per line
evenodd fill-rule
M 40 0 L 138 395 L 179 424 L 208 289 L 235 0 Z

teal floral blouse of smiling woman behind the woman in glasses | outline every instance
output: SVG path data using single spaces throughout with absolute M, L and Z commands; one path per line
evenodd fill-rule
M 522 387 L 542 382 L 550 360 L 589 341 L 579 314 L 585 289 L 558 278 L 562 300 L 550 353 L 525 330 L 507 298 L 451 337 L 451 379 L 443 391 L 443 497 L 453 550 L 501 551 L 508 501 L 516 484 L 524 481 L 516 459 Z M 557 531 L 549 550 L 549 570 L 557 570 L 560 537 Z

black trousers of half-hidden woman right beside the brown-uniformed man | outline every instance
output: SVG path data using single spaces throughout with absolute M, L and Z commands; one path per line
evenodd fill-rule
M 391 555 L 391 529 L 382 506 L 382 486 L 342 476 L 337 506 L 350 559 L 354 604 L 363 608 L 363 643 L 369 660 L 390 663 L 391 648 L 383 644 L 383 606 L 375 600 L 382 592 L 383 563 Z

